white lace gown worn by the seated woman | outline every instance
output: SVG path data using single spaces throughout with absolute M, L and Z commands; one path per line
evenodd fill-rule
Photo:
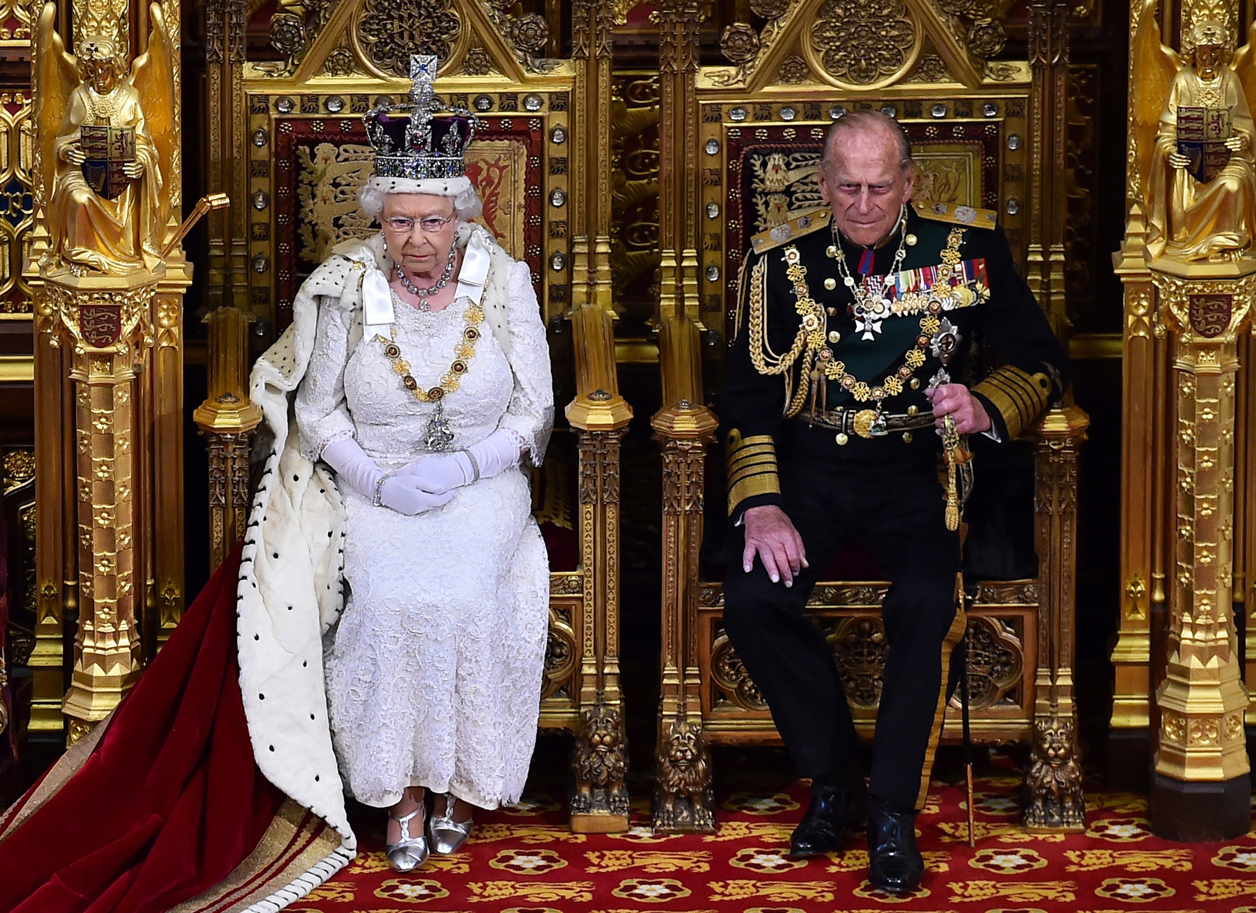
M 491 293 L 487 293 L 491 294 Z M 397 344 L 422 388 L 440 384 L 468 299 L 425 314 L 396 304 Z M 462 450 L 512 431 L 539 463 L 553 424 L 549 350 L 526 264 L 510 273 L 510 357 L 487 324 L 458 389 L 443 399 Z M 382 468 L 423 456 L 435 404 L 402 386 L 378 338 L 349 350 L 360 313 L 319 303 L 296 393 L 311 458 L 353 436 Z M 350 595 L 328 635 L 327 691 L 349 792 L 386 808 L 423 786 L 480 808 L 517 801 L 536 738 L 549 629 L 549 564 L 520 467 L 456 490 L 417 516 L 342 486 Z

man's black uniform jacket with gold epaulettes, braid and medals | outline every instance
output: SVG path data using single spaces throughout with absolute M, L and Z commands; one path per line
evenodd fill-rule
M 929 202 L 908 206 L 906 256 L 896 274 L 896 291 L 884 294 L 899 300 L 901 289 L 907 293 L 903 304 L 913 301 L 913 291 L 924 294 L 914 299 L 919 313 L 887 314 L 879 328 L 857 328 L 854 295 L 833 255 L 830 216 L 831 210 L 824 207 L 755 236 L 742 264 L 737 330 L 721 397 L 732 521 L 750 507 L 782 504 L 779 450 L 788 457 L 794 447 L 808 447 L 813 453 L 819 448 L 835 468 L 850 461 L 937 460 L 942 443 L 932 427 L 865 437 L 814 424 L 809 421 L 813 384 L 816 409 L 875 409 L 867 391 L 863 402 L 852 393 L 849 387 L 858 392 L 862 383 L 868 389 L 885 389 L 884 414 L 929 413 L 924 389 L 931 379 L 945 368 L 951 383 L 962 382 L 972 342 L 978 338 L 990 344 L 1002 367 L 971 389 L 1002 442 L 1019 436 L 1068 387 L 1066 355 L 1016 273 L 993 212 Z M 889 273 L 899 240 L 896 232 L 874 250 L 872 276 Z M 845 239 L 842 249 L 849 274 L 863 281 L 858 267 L 865 249 Z M 952 275 L 939 285 L 937 270 L 931 267 L 947 259 Z M 943 294 L 937 294 L 938 288 Z M 922 301 L 929 298 L 939 301 L 932 314 L 939 328 L 926 334 L 933 324 L 923 323 L 928 306 Z M 872 339 L 864 338 L 868 332 L 873 332 Z M 781 370 L 791 349 L 796 357 Z M 831 372 L 838 364 L 844 370 L 828 378 L 820 374 L 813 382 L 815 370 L 829 367 Z M 762 373 L 772 372 L 774 365 L 780 373 Z M 893 392 L 899 384 L 901 392 Z

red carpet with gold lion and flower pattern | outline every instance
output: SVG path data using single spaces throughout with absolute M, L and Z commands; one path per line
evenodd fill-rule
M 1009 771 L 1010 772 L 1010 771 Z M 934 781 L 918 819 L 928 873 L 908 898 L 872 890 L 867 848 L 852 839 L 824 859 L 784 856 L 806 789 L 756 787 L 730 776 L 718 833 L 651 833 L 647 804 L 627 834 L 571 834 L 556 796 L 481 814 L 463 851 L 398 875 L 376 815 L 357 821 L 358 859 L 289 909 L 294 913 L 1256 913 L 1256 831 L 1225 844 L 1172 844 L 1147 830 L 1147 801 L 1090 792 L 1084 835 L 1030 835 L 1020 826 L 1019 777 L 978 777 L 977 848 L 966 843 L 965 797 Z M 759 777 L 764 784 L 764 777 Z

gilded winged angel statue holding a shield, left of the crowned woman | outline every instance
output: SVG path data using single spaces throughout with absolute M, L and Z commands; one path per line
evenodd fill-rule
M 36 123 L 51 245 L 49 273 L 84 267 L 107 275 L 153 270 L 170 215 L 176 154 L 173 46 L 158 4 L 149 6 L 148 50 L 129 73 L 127 49 L 88 38 L 65 51 L 57 5 L 36 33 Z

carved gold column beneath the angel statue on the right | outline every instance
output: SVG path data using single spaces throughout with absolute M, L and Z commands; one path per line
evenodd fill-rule
M 1252 265 L 1243 264 L 1247 270 Z M 1232 603 L 1235 375 L 1256 274 L 1233 265 L 1158 270 L 1152 280 L 1173 334 L 1174 574 L 1168 668 L 1156 698 L 1159 750 L 1152 829 L 1169 839 L 1230 839 L 1251 818 L 1250 765 Z

